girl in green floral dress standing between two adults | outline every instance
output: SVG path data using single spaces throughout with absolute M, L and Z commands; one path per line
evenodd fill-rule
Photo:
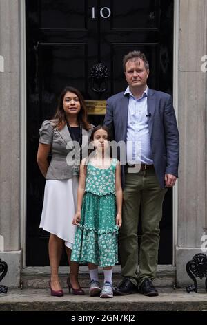
M 71 259 L 88 263 L 90 296 L 101 293 L 101 298 L 113 297 L 112 266 L 117 263 L 117 234 L 121 227 L 121 166 L 117 159 L 110 158 L 111 140 L 108 127 L 99 125 L 92 130 L 90 142 L 95 151 L 88 162 L 86 159 L 81 161 L 77 212 L 72 221 L 79 227 Z M 103 267 L 102 290 L 98 266 Z

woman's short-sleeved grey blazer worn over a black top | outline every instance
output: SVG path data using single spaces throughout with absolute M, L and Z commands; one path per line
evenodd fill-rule
M 81 150 L 73 147 L 67 125 L 59 131 L 55 123 L 44 121 L 39 129 L 39 142 L 51 145 L 52 159 L 46 174 L 46 179 L 63 180 L 79 174 L 80 151 L 82 158 L 88 154 L 88 142 L 92 128 L 89 131 L 82 129 Z M 75 149 L 74 149 L 75 148 Z

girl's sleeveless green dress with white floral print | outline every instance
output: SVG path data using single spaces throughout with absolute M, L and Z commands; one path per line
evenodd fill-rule
M 100 169 L 88 163 L 86 189 L 81 209 L 81 222 L 72 246 L 72 261 L 94 263 L 101 267 L 117 263 L 115 169 L 117 159 L 110 167 Z

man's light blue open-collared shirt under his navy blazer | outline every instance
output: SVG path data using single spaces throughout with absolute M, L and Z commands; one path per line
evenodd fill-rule
M 148 87 L 137 100 L 127 87 L 124 95 L 129 95 L 128 124 L 126 133 L 126 160 L 130 164 L 152 165 L 152 149 L 148 129 Z

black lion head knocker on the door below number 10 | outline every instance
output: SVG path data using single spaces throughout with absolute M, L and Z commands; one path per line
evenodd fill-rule
M 104 93 L 107 89 L 108 68 L 103 63 L 97 63 L 90 69 L 91 88 L 95 93 Z

